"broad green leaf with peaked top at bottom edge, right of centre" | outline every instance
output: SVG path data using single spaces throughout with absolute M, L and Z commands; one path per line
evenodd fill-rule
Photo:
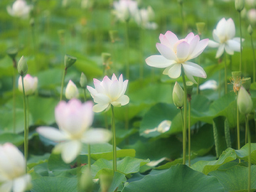
M 213 176 L 193 171 L 188 166 L 178 164 L 170 169 L 147 175 L 139 181 L 124 186 L 122 192 L 133 191 L 224 191 L 223 186 Z

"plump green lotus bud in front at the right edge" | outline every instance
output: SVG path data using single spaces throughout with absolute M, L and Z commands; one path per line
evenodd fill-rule
M 240 114 L 249 114 L 252 111 L 252 98 L 244 87 L 240 87 L 238 92 L 238 110 Z

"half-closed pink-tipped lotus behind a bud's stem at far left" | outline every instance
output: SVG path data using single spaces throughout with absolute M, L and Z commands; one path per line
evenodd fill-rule
M 25 95 L 32 95 L 38 87 L 38 78 L 33 78 L 31 75 L 27 74 L 23 78 L 23 81 Z M 23 92 L 21 76 L 18 78 L 18 90 Z

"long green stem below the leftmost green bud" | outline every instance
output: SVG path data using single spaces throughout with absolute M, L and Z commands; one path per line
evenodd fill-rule
M 27 117 L 26 117 L 26 95 L 25 95 L 25 88 L 24 88 L 24 77 L 21 76 L 21 80 L 22 80 L 22 90 L 23 90 L 23 108 L 24 108 L 24 156 L 25 156 L 25 168 L 27 171 L 27 159 L 28 159 L 28 132 L 27 132 Z

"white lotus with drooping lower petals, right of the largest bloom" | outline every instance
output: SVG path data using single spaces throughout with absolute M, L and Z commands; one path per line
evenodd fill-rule
M 240 38 L 235 36 L 235 23 L 232 18 L 220 19 L 216 28 L 213 30 L 214 41 L 209 41 L 208 46 L 211 48 L 218 48 L 216 58 L 223 55 L 224 50 L 229 55 L 233 55 L 234 51 L 240 52 Z

